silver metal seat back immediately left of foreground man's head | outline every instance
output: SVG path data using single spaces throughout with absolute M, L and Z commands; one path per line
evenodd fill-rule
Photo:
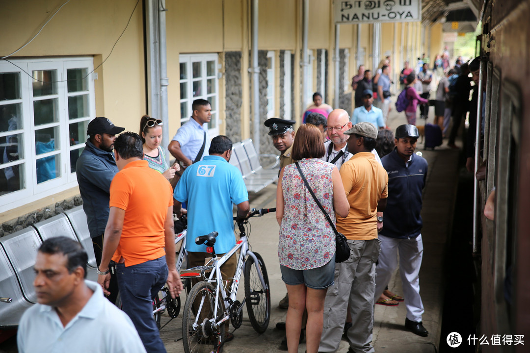
M 41 243 L 39 235 L 32 227 L 0 238 L 0 246 L 10 265 L 5 268 L 11 268 L 14 271 L 23 298 L 30 303 L 37 303 L 37 295 L 33 287 L 35 279 L 33 266 Z M 20 297 L 13 297 L 13 300 L 19 301 Z

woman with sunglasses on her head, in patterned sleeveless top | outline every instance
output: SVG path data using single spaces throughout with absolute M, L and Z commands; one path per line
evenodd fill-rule
M 171 167 L 167 165 L 164 149 L 160 147 L 162 125 L 162 120 L 144 115 L 140 119 L 140 136 L 144 141 L 144 159 L 149 162 L 149 167 L 160 171 L 167 180 L 171 181 L 175 172 L 180 170 L 180 166 L 176 163 Z

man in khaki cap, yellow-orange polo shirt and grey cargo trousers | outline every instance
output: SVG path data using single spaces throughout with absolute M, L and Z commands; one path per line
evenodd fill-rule
M 377 212 L 383 212 L 388 196 L 388 175 L 372 150 L 377 128 L 360 122 L 345 132 L 354 156 L 340 168 L 350 204 L 348 216 L 337 220 L 337 230 L 348 239 L 350 258 L 335 264 L 333 286 L 324 303 L 324 329 L 319 352 L 339 348 L 348 304 L 352 327 L 347 331 L 349 352 L 374 352 L 371 345 L 374 316 L 375 263 L 379 256 Z

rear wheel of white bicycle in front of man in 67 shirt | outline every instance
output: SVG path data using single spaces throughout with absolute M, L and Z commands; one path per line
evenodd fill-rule
M 210 283 L 199 282 L 191 288 L 184 304 L 182 340 L 186 353 L 220 353 L 225 337 L 225 324 L 215 327 L 215 289 Z M 223 302 L 218 298 L 218 316 L 223 314 Z

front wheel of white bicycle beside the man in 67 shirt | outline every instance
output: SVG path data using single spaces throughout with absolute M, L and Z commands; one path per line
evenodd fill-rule
M 263 333 L 267 330 L 270 319 L 270 286 L 267 269 L 260 254 L 254 252 L 258 263 L 249 256 L 245 263 L 245 297 L 246 310 L 249 311 L 250 323 L 254 330 Z M 267 288 L 263 288 L 259 273 Z

